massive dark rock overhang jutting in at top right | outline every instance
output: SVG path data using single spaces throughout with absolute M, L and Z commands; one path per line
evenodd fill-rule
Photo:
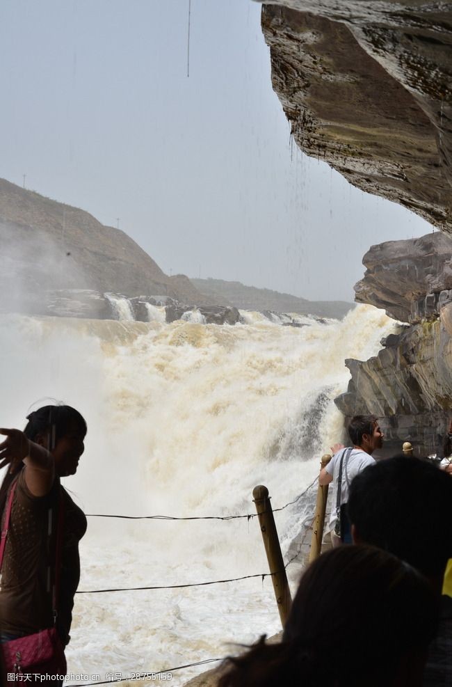
M 452 232 L 450 6 L 276 0 L 262 28 L 300 149 Z

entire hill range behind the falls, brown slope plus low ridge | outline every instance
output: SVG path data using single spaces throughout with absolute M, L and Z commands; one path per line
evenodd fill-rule
M 72 298 L 66 290 L 320 317 L 340 318 L 353 308 L 344 301 L 307 301 L 234 281 L 168 276 L 123 231 L 5 179 L 0 179 L 0 240 L 0 311 L 36 312 L 36 303 L 44 303 L 49 292 Z

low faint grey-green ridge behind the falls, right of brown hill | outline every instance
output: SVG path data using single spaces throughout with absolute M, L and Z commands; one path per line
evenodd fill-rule
M 308 301 L 291 294 L 279 293 L 270 289 L 257 289 L 254 286 L 245 286 L 239 281 L 191 278 L 191 282 L 208 299 L 222 305 L 235 306 L 236 308 L 241 308 L 241 310 L 273 310 L 276 313 L 309 314 L 341 319 L 348 313 L 348 310 L 355 308 L 355 303 L 347 303 L 346 301 Z

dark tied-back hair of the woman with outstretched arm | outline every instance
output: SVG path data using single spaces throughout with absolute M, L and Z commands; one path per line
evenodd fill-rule
M 72 429 L 83 434 L 87 432 L 86 422 L 75 408 L 65 405 L 42 406 L 26 416 L 28 423 L 24 429 L 27 439 L 33 441 L 38 434 L 49 434 L 49 446 L 54 448 L 58 439 L 65 436 Z M 0 514 L 3 512 L 6 503 L 6 494 L 11 482 L 22 470 L 24 464 L 15 464 L 13 473 L 7 471 L 0 487 Z

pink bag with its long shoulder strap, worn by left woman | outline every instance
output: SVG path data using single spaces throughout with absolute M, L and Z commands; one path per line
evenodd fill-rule
M 6 538 L 8 537 L 8 527 L 10 523 L 11 510 L 13 509 L 13 498 L 17 482 L 13 484 L 6 507 L 6 517 L 3 531 L 1 532 L 0 543 L 0 570 L 3 563 L 3 555 L 6 548 Z M 60 553 L 61 537 L 63 536 L 63 499 L 60 494 L 58 505 L 58 524 L 56 531 L 56 562 L 55 562 L 55 584 L 53 590 L 54 618 L 56 619 L 56 601 L 58 599 L 58 585 L 60 574 Z M 36 683 L 45 686 L 54 686 L 58 681 L 63 681 L 66 674 L 66 658 L 63 644 L 58 636 L 56 627 L 35 632 L 33 635 L 26 635 L 17 639 L 2 642 L 0 649 L 3 654 L 3 664 L 7 673 L 26 674 L 27 681 L 31 684 Z M 45 676 L 45 679 L 42 679 Z

